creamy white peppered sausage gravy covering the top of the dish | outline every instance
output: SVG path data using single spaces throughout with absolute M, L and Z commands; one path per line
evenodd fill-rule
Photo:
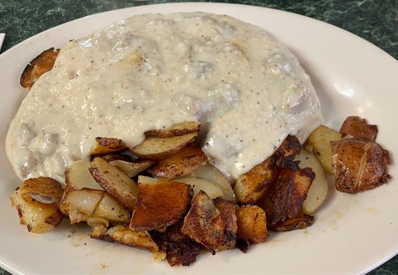
M 291 134 L 322 122 L 297 58 L 264 30 L 228 16 L 144 14 L 67 43 L 10 125 L 6 152 L 21 178 L 63 181 L 95 137 L 130 147 L 144 131 L 204 124 L 203 151 L 232 179 Z

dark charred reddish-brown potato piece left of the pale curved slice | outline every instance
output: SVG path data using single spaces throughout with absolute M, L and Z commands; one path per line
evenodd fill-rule
M 280 221 L 300 217 L 302 204 L 314 178 L 315 174 L 311 168 L 281 170 L 278 181 L 269 194 L 272 210 L 267 223 L 275 225 Z

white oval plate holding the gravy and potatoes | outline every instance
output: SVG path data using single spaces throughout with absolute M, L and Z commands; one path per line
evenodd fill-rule
M 24 91 L 19 76 L 27 61 L 98 28 L 148 12 L 214 12 L 261 26 L 285 42 L 313 80 L 329 126 L 346 115 L 379 124 L 378 141 L 398 155 L 398 63 L 349 32 L 300 15 L 245 5 L 173 3 L 115 10 L 71 21 L 27 39 L 0 56 L 0 265 L 14 274 L 362 274 L 398 252 L 398 167 L 388 185 L 357 195 L 333 192 L 307 230 L 272 234 L 266 243 L 201 254 L 191 267 L 152 263 L 151 254 L 71 233 L 64 222 L 52 234 L 30 234 L 19 225 L 9 195 L 19 184 L 5 158 L 4 139 Z M 81 227 L 84 228 L 84 227 Z

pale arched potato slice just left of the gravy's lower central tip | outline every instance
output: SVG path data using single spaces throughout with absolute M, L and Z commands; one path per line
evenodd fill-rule
M 223 191 L 223 199 L 228 199 L 228 201 L 235 201 L 234 190 L 232 190 L 232 186 L 227 177 L 225 177 L 225 175 L 221 173 L 219 169 L 215 168 L 211 164 L 200 166 L 192 173 L 186 175 L 186 177 L 199 177 L 202 179 L 207 179 L 208 181 L 212 181 L 212 183 L 217 184 Z

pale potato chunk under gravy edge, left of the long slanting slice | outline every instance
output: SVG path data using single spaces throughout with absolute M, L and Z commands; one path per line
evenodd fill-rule
M 78 160 L 65 171 L 65 193 L 74 189 L 90 188 L 104 190 L 89 171 L 91 162 L 88 160 Z

